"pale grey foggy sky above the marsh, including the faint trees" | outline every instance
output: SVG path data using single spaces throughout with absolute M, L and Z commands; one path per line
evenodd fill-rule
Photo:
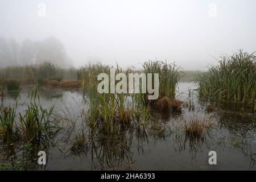
M 256 51 L 254 0 L 0 0 L 0 24 L 0 66 L 158 59 L 204 70 L 220 54 Z

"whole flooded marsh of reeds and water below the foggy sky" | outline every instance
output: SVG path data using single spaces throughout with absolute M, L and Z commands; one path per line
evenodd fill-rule
M 127 82 L 111 79 L 112 71 Z M 99 93 L 101 73 L 110 78 L 102 89 L 127 92 Z M 129 84 L 131 73 L 159 73 L 159 85 L 154 76 L 151 85 L 159 86 L 158 99 L 148 99 L 142 78 L 138 88 Z M 126 70 L 100 63 L 63 69 L 50 62 L 1 68 L 0 169 L 255 170 L 254 55 L 224 57 L 197 72 L 197 82 L 179 82 L 185 74 L 167 61 Z M 18 89 L 8 88 L 10 80 Z M 36 162 L 40 150 L 46 166 Z M 218 166 L 206 160 L 212 150 Z

